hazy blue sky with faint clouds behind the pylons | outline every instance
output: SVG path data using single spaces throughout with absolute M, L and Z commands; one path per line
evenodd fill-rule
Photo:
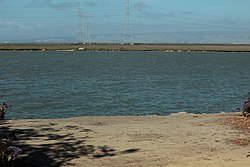
M 130 0 L 134 42 L 250 43 L 249 0 Z M 121 42 L 125 0 L 0 0 L 0 42 Z

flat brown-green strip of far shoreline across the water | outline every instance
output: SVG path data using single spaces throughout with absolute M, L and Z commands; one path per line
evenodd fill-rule
M 164 51 L 164 52 L 250 52 L 250 44 L 0 44 L 0 51 Z

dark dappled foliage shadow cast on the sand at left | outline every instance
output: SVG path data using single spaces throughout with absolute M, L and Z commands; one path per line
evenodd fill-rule
M 1 121 L 1 120 L 0 120 Z M 13 129 L 8 121 L 0 122 L 0 137 L 6 138 L 9 134 L 16 135 L 15 146 L 23 150 L 22 156 L 13 161 L 10 166 L 24 167 L 47 167 L 47 166 L 74 166 L 71 160 L 86 156 L 91 159 L 103 158 L 107 156 L 117 156 L 122 154 L 131 154 L 140 151 L 137 148 L 128 150 L 116 150 L 107 145 L 94 146 L 86 144 L 91 140 L 88 133 L 91 129 L 79 129 L 76 126 L 65 126 L 64 134 L 58 133 L 59 130 L 50 123 L 47 126 Z M 81 137 L 74 136 L 71 130 L 82 132 Z M 43 141 L 43 144 L 36 143 L 36 140 Z M 32 140 L 32 144 L 24 144 L 25 141 Z

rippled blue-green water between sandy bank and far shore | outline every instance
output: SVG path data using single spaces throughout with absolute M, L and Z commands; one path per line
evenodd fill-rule
M 0 52 L 8 119 L 230 112 L 250 53 Z

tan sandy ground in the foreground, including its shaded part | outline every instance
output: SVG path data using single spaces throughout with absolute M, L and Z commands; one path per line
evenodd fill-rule
M 233 114 L 7 120 L 16 166 L 249 167 L 250 127 Z M 235 123 L 235 122 L 234 122 Z M 248 126 L 248 125 L 247 125 Z

